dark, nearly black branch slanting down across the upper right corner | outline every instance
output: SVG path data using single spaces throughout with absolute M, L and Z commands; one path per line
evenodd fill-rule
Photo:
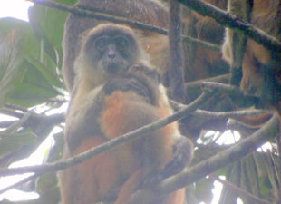
M 215 19 L 218 24 L 241 31 L 243 34 L 246 34 L 249 38 L 256 41 L 257 44 L 262 44 L 269 50 L 281 52 L 281 42 L 275 37 L 266 34 L 252 24 L 242 21 L 237 18 L 237 16 L 229 15 L 227 12 L 214 5 L 209 5 L 202 0 L 179 0 L 179 2 L 198 12 L 200 15 L 207 15 Z

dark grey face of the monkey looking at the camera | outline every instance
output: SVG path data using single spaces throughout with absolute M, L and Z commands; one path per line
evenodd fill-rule
M 88 60 L 106 75 L 125 72 L 139 55 L 135 38 L 124 31 L 103 30 L 93 34 L 86 44 Z

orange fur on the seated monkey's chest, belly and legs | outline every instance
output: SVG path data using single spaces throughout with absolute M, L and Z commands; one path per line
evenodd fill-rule
M 161 97 L 157 104 L 150 104 L 133 91 L 118 90 L 110 95 L 102 95 L 102 98 L 102 110 L 100 115 L 96 116 L 102 134 L 83 136 L 75 150 L 66 150 L 65 159 L 170 114 L 169 103 Z M 91 121 L 88 122 L 91 125 Z M 100 202 L 110 199 L 110 194 L 116 189 L 118 196 L 114 203 L 128 204 L 133 192 L 141 188 L 143 180 L 154 170 L 163 169 L 172 160 L 176 144 L 173 135 L 177 131 L 178 126 L 174 122 L 144 138 L 63 170 L 60 172 L 63 204 Z M 185 191 L 179 189 L 168 195 L 164 201 L 151 204 L 183 204 L 184 199 Z

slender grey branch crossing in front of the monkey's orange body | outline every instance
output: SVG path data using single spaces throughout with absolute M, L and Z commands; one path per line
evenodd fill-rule
M 74 166 L 76 164 L 81 163 L 83 160 L 88 160 L 93 156 L 101 154 L 104 151 L 111 151 L 112 149 L 116 148 L 117 146 L 124 144 L 125 142 L 135 140 L 141 136 L 148 134 L 151 131 L 156 131 L 173 121 L 178 121 L 179 119 L 183 118 L 189 112 L 194 112 L 199 106 L 203 105 L 205 102 L 208 101 L 209 97 L 212 95 L 212 92 L 203 92 L 197 100 L 191 102 L 185 109 L 182 109 L 178 112 L 174 112 L 169 117 L 161 119 L 159 121 L 154 121 L 148 125 L 145 125 L 135 131 L 131 131 L 126 133 L 114 140 L 108 141 L 103 143 L 102 145 L 92 148 L 89 151 L 82 152 L 81 154 L 69 159 L 63 160 L 59 162 L 54 162 L 50 164 L 44 165 L 37 165 L 31 167 L 22 167 L 22 168 L 3 168 L 0 169 L 0 176 L 8 176 L 14 174 L 22 174 L 26 172 L 35 172 L 35 173 L 44 173 L 49 171 L 56 171 L 56 170 L 63 170 Z

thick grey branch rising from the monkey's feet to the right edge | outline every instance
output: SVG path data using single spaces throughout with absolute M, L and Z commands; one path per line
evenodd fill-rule
M 155 195 L 167 195 L 170 192 L 184 188 L 196 180 L 202 179 L 208 174 L 219 170 L 228 164 L 245 157 L 252 151 L 257 150 L 266 141 L 272 140 L 279 133 L 278 116 L 274 116 L 259 131 L 256 131 L 245 140 L 238 142 L 230 147 L 227 151 L 222 151 L 215 156 L 199 162 L 197 165 L 184 170 L 178 175 L 163 180 L 153 189 L 140 189 L 131 198 L 134 204 L 143 203 L 143 200 L 150 202 L 155 199 Z

